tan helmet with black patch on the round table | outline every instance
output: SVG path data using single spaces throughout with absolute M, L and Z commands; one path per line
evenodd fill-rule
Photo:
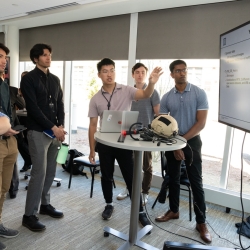
M 151 129 L 163 137 L 171 137 L 178 134 L 177 121 L 170 115 L 159 115 L 151 123 Z

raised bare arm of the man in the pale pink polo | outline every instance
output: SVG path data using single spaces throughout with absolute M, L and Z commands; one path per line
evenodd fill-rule
M 135 92 L 135 100 L 149 98 L 154 92 L 154 87 L 159 77 L 163 74 L 161 67 L 155 67 L 149 76 L 148 86 L 145 89 L 137 89 Z

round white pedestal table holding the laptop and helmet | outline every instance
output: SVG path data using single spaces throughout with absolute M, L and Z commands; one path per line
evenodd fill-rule
M 118 238 L 126 240 L 126 242 L 118 249 L 129 249 L 133 245 L 141 247 L 143 249 L 158 250 L 157 248 L 146 244 L 140 239 L 146 235 L 153 226 L 143 227 L 138 231 L 138 218 L 139 218 L 139 206 L 140 206 L 140 193 L 141 193 L 141 172 L 142 172 L 142 156 L 144 151 L 172 151 L 184 148 L 186 146 L 186 140 L 181 136 L 176 136 L 177 143 L 172 145 L 166 145 L 161 143 L 157 146 L 157 142 L 152 141 L 135 141 L 129 135 L 126 136 L 124 142 L 118 142 L 120 133 L 95 133 L 95 140 L 104 145 L 134 150 L 134 169 L 133 169 L 133 189 L 131 197 L 131 212 L 130 212 L 130 224 L 129 235 L 119 232 L 110 227 L 104 227 L 103 230 L 107 234 L 113 234 Z M 139 138 L 139 135 L 136 135 Z

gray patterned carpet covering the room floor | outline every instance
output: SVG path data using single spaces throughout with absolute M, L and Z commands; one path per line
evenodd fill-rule
M 19 166 L 22 166 L 20 159 Z M 23 174 L 20 173 L 20 186 L 17 198 L 9 199 L 7 196 L 3 209 L 4 225 L 18 229 L 20 234 L 13 239 L 1 238 L 0 241 L 11 250 L 117 249 L 123 244 L 123 240 L 113 235 L 104 238 L 103 227 L 110 226 L 123 233 L 128 233 L 130 200 L 128 198 L 122 201 L 115 199 L 124 187 L 124 182 L 120 178 L 115 179 L 117 186 L 117 188 L 114 189 L 115 211 L 110 221 L 104 221 L 101 218 L 105 203 L 100 185 L 100 176 L 96 175 L 93 198 L 89 198 L 91 178 L 90 174 L 88 174 L 88 176 L 89 179 L 83 176 L 74 176 L 71 188 L 68 189 L 69 174 L 63 172 L 61 166 L 58 166 L 56 177 L 62 179 L 62 185 L 57 187 L 56 183 L 53 184 L 51 188 L 51 204 L 63 210 L 64 218 L 53 219 L 46 215 L 39 215 L 40 221 L 46 225 L 47 229 L 42 233 L 34 233 L 21 225 L 27 181 L 24 180 Z M 156 216 L 161 215 L 168 208 L 167 201 L 165 204 L 157 203 L 155 208 L 151 209 L 158 192 L 159 190 L 155 188 L 150 190 L 149 202 L 147 204 L 147 211 L 153 222 Z M 214 204 L 207 204 L 207 209 L 207 221 L 214 230 L 209 227 L 213 236 L 212 245 L 235 248 L 235 245 L 227 241 L 230 240 L 239 246 L 239 236 L 236 233 L 235 223 L 240 222 L 241 213 L 232 210 L 229 214 L 226 214 L 224 207 Z M 181 197 L 180 218 L 168 223 L 156 223 L 157 226 L 162 229 L 154 226 L 151 235 L 145 236 L 142 240 L 159 249 L 163 248 L 163 243 L 166 240 L 200 244 L 194 241 L 202 242 L 198 232 L 194 230 L 194 213 L 193 220 L 190 222 L 188 211 L 187 199 L 186 197 Z M 194 240 L 183 238 L 176 234 Z M 245 247 L 250 244 L 248 238 L 242 237 L 241 240 Z M 131 249 L 139 248 L 134 246 Z

